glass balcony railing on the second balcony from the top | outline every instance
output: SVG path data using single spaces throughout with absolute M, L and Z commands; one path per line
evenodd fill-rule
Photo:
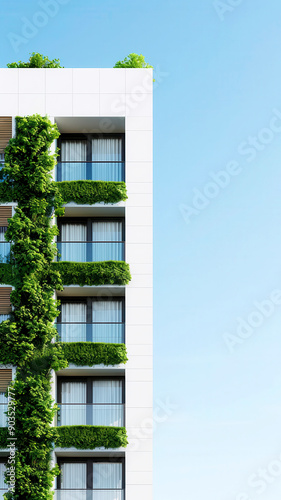
M 124 241 L 60 241 L 57 242 L 62 261 L 101 262 L 125 260 Z

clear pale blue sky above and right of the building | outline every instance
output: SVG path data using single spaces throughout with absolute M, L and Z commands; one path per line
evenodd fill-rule
M 155 429 L 155 500 L 277 500 L 281 306 L 253 313 L 281 290 L 281 4 L 64 1 L 16 53 L 9 34 L 21 35 L 40 2 L 2 0 L 0 66 L 36 51 L 65 67 L 112 67 L 137 52 L 164 73 L 154 99 L 155 407 L 169 397 L 177 408 Z M 218 171 L 224 188 L 209 184 Z M 243 323 L 239 337 L 238 317 L 259 326 Z M 226 334 L 239 340 L 233 352 Z

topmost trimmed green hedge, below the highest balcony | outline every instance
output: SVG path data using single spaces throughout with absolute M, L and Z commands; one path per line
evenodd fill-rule
M 118 203 L 128 198 L 125 182 L 62 181 L 56 182 L 56 186 L 64 203 L 93 205 L 94 203 Z

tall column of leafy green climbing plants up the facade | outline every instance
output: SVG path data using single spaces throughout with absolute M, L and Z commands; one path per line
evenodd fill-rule
M 62 209 L 51 177 L 56 155 L 50 155 L 49 148 L 59 132 L 39 115 L 17 117 L 16 127 L 1 171 L 1 193 L 8 196 L 12 189 L 17 201 L 5 233 L 11 242 L 11 263 L 0 265 L 1 279 L 10 274 L 7 281 L 14 286 L 13 312 L 0 324 L 0 359 L 17 365 L 13 382 L 16 488 L 7 498 L 49 500 L 57 473 L 50 460 L 56 437 L 50 373 L 67 366 L 61 346 L 52 343 L 58 315 L 53 292 L 62 289 L 62 282 L 52 265 L 57 228 L 51 218 Z

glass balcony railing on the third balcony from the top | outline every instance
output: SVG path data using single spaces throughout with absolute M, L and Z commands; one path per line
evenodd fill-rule
M 125 342 L 124 323 L 56 323 L 56 328 L 61 342 Z

